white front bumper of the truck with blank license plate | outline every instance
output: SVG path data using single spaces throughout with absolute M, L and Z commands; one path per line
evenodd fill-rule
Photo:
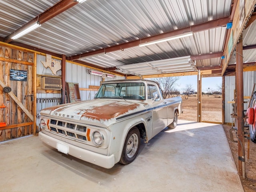
M 39 132 L 38 136 L 40 140 L 42 140 L 42 142 L 48 144 L 49 146 L 52 146 L 53 148 L 58 149 L 58 151 L 64 152 L 65 154 L 69 154 L 71 156 L 74 156 L 86 162 L 89 162 L 107 169 L 112 168 L 115 164 L 113 154 L 110 156 L 98 154 L 98 153 L 74 146 L 72 144 L 62 142 L 56 138 L 53 138 L 51 136 L 44 134 L 43 132 Z

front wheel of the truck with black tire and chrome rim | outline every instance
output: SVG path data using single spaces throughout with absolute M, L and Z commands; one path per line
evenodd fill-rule
M 140 131 L 138 128 L 132 128 L 125 139 L 124 148 L 120 158 L 120 163 L 126 165 L 136 158 L 140 148 Z

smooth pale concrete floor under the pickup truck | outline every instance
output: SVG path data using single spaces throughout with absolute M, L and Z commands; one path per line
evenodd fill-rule
M 104 169 L 36 136 L 0 143 L 0 191 L 244 192 L 222 125 L 179 120 L 134 162 Z

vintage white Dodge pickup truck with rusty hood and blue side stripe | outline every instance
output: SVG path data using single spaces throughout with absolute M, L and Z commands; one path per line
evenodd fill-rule
M 104 168 L 131 163 L 140 140 L 175 128 L 181 97 L 162 98 L 152 80 L 102 82 L 95 98 L 41 110 L 39 138 L 64 154 Z

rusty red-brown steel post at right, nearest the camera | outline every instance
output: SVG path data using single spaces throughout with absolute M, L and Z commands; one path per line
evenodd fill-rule
M 236 97 L 237 97 L 237 135 L 238 135 L 238 173 L 245 178 L 244 154 L 244 80 L 242 35 L 236 45 Z

